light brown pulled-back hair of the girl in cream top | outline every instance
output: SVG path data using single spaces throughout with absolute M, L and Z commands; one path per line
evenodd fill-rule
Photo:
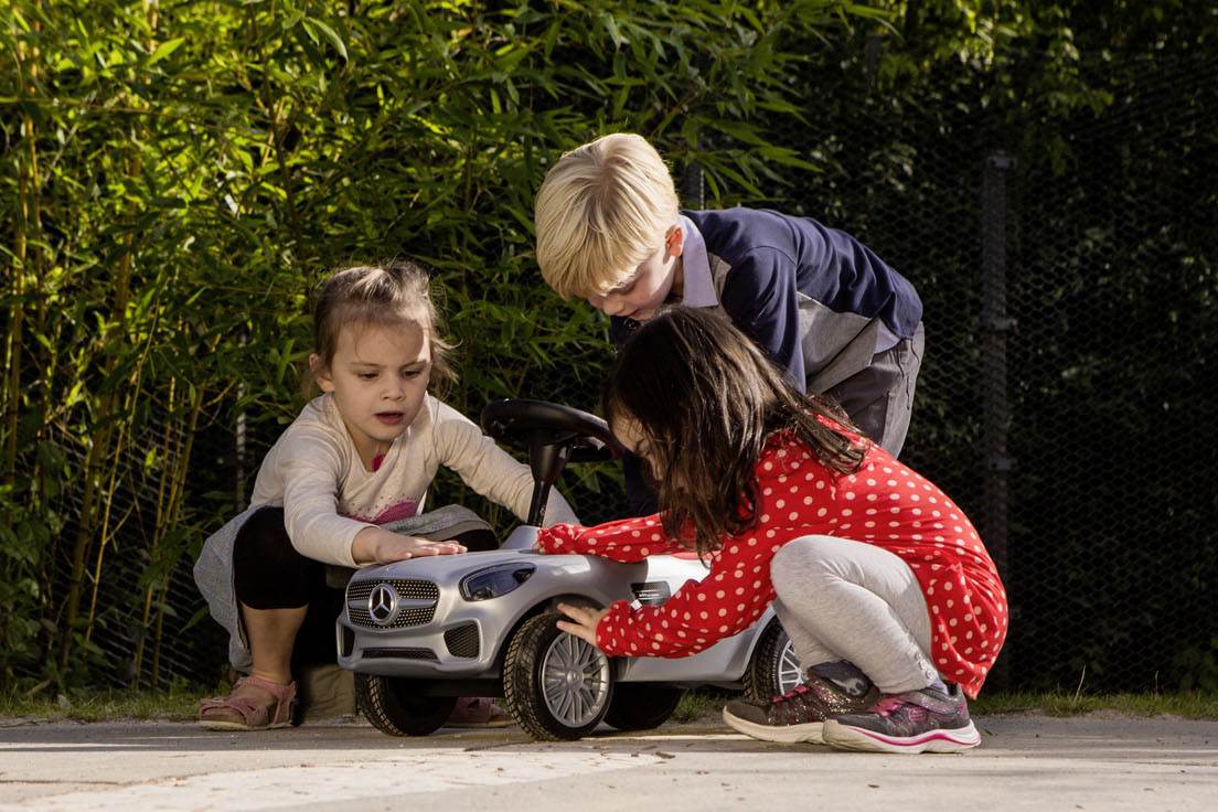
M 315 374 L 334 360 L 345 325 L 419 326 L 431 343 L 431 381 L 442 388 L 457 380 L 448 363 L 453 346 L 443 338 L 443 323 L 432 301 L 428 271 L 414 262 L 395 259 L 346 268 L 320 284 L 313 308 L 317 359 L 304 376 L 306 394 L 313 390 Z

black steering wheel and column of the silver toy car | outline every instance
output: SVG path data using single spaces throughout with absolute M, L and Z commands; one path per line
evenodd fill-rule
M 568 463 L 621 457 L 622 446 L 600 418 L 547 401 L 492 401 L 482 409 L 482 431 L 526 452 L 533 475 L 529 523 L 541 526 L 549 488 Z

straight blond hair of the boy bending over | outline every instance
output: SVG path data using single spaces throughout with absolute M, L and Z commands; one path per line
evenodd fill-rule
M 677 192 L 659 152 L 618 133 L 559 158 L 537 190 L 541 275 L 564 299 L 603 296 L 664 247 Z

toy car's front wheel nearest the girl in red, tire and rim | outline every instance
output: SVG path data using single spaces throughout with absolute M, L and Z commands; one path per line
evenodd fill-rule
M 503 665 L 508 710 L 540 741 L 570 741 L 591 733 L 609 710 L 609 659 L 555 622 L 557 612 L 530 617 L 513 635 Z

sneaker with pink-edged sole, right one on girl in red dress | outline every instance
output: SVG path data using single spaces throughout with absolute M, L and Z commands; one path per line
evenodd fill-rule
M 873 706 L 825 722 L 825 744 L 870 752 L 960 752 L 982 741 L 960 685 L 885 694 Z

